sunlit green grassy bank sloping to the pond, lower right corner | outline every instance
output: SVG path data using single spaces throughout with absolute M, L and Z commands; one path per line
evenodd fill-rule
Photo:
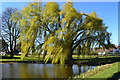
M 87 80 L 93 78 L 97 80 L 106 80 L 108 78 L 112 78 L 115 73 L 120 72 L 120 70 L 118 69 L 118 64 L 120 64 L 120 62 L 98 66 L 95 69 L 88 70 L 86 73 L 77 75 L 72 79 L 82 78 L 84 80 Z

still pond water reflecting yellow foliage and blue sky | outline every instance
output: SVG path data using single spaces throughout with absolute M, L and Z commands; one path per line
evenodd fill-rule
M 60 66 L 56 64 L 2 64 L 3 78 L 68 78 L 96 66 Z

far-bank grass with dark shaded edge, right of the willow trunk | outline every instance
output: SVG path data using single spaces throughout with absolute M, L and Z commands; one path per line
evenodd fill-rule
M 76 58 L 77 55 L 73 55 L 74 56 L 74 63 L 78 63 L 78 64 L 86 64 L 86 65 L 103 65 L 103 64 L 110 64 L 110 63 L 115 63 L 120 61 L 120 56 L 98 56 L 95 57 L 94 55 L 92 55 L 92 57 L 88 57 L 89 55 L 86 55 L 86 57 L 82 57 L 80 58 L 82 55 L 80 55 L 80 57 Z

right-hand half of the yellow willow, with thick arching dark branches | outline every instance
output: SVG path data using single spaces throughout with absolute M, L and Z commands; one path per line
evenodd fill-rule
M 46 62 L 51 58 L 52 63 L 71 63 L 73 51 L 78 46 L 82 53 L 89 53 L 96 44 L 105 46 L 106 42 L 109 43 L 107 28 L 95 12 L 78 13 L 73 3 L 68 2 L 59 14 L 59 27 L 44 44 Z

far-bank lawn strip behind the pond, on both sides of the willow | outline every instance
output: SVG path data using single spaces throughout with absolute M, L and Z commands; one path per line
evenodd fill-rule
M 96 58 L 97 57 L 97 58 Z M 106 63 L 113 63 L 120 61 L 119 58 L 116 58 L 115 56 L 97 56 L 97 55 L 73 55 L 74 63 L 81 63 L 81 64 L 87 64 L 87 65 L 100 65 L 100 64 L 106 64 Z M 0 56 L 0 61 L 3 62 L 10 62 L 10 61 L 41 61 L 44 62 L 44 58 L 42 55 L 40 57 L 37 56 L 29 56 L 25 57 L 23 60 L 20 59 L 20 55 L 14 55 L 14 58 L 10 58 L 10 55 L 6 56 Z M 87 62 L 87 63 L 85 63 Z

